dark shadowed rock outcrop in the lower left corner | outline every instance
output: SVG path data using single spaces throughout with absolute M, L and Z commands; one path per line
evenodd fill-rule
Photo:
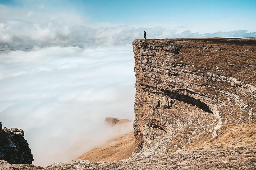
M 0 122 L 0 160 L 15 164 L 32 164 L 33 155 L 22 129 L 2 128 Z

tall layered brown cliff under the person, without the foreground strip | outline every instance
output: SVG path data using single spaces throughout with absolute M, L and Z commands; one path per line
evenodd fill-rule
M 228 38 L 134 40 L 137 152 L 255 144 L 255 48 Z

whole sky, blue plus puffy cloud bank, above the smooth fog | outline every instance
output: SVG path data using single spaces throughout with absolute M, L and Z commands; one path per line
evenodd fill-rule
M 0 0 L 0 48 L 116 46 L 136 38 L 256 37 L 256 1 Z

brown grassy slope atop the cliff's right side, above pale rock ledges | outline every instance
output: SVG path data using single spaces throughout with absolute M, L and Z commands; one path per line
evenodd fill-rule
M 228 40 L 180 39 L 174 44 L 184 47 L 179 51 L 179 59 L 182 64 L 195 65 L 195 71 L 207 70 L 256 85 L 256 41 Z

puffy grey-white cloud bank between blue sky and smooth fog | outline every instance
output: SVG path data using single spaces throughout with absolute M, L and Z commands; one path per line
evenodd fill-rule
M 110 23 L 91 23 L 88 17 L 76 13 L 26 11 L 0 5 L 0 50 L 34 46 L 131 46 L 134 39 L 143 38 L 144 31 L 147 32 L 148 38 L 254 37 L 256 34 L 246 30 L 204 34 L 186 30 L 189 27 L 185 25 L 173 30 L 161 26 L 136 28 Z

